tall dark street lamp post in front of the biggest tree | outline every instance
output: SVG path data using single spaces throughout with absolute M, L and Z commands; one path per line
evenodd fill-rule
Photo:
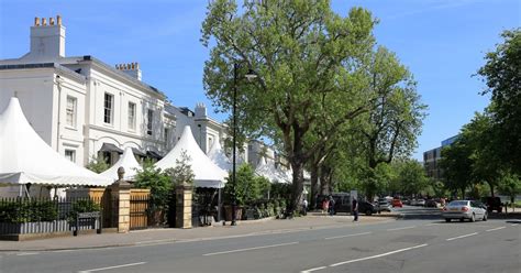
M 236 215 L 236 206 L 237 206 L 237 196 L 236 196 L 236 186 L 237 186 L 237 183 L 236 183 L 236 150 L 237 150 L 237 114 L 236 114 L 236 110 L 237 110 L 237 79 L 239 79 L 239 68 L 241 67 L 240 64 L 237 63 L 234 63 L 233 64 L 233 111 L 232 111 L 232 116 L 233 116 L 233 152 L 232 152 L 232 156 L 233 156 L 233 160 L 232 160 L 232 226 L 236 226 L 237 222 L 237 215 Z M 251 81 L 253 79 L 255 79 L 257 77 L 257 75 L 255 74 L 254 70 L 252 69 L 248 69 L 247 74 L 244 75 L 244 77 Z

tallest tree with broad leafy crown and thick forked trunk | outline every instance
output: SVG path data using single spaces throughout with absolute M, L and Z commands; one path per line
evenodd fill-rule
M 209 3 L 202 43 L 212 43 L 206 62 L 207 96 L 222 111 L 233 106 L 233 64 L 240 74 L 257 74 L 242 81 L 237 95 L 239 123 L 248 134 L 265 134 L 282 145 L 293 171 L 289 211 L 298 208 L 303 166 L 337 133 L 337 128 L 368 110 L 364 62 L 374 46 L 375 20 L 356 8 L 342 18 L 328 0 L 235 1 Z M 317 123 L 328 124 L 314 145 L 304 139 Z

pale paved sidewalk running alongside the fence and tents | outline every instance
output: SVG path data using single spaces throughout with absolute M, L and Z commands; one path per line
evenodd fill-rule
M 54 251 L 200 241 L 266 233 L 299 232 L 331 227 L 374 225 L 391 220 L 393 218 L 361 216 L 358 222 L 353 222 L 352 216 L 308 215 L 307 217 L 290 220 L 262 219 L 239 221 L 235 227 L 231 227 L 229 226 L 230 222 L 226 222 L 226 226 L 218 225 L 193 229 L 147 229 L 129 233 L 84 234 L 33 241 L 0 241 L 0 251 Z

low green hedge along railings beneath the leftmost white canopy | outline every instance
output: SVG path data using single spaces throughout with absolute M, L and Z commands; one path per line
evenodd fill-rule
M 0 222 L 35 222 L 57 220 L 56 201 L 38 199 L 3 200 L 0 203 Z

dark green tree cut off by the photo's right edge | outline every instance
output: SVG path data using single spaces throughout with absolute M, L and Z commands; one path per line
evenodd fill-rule
M 478 70 L 491 94 L 490 110 L 502 164 L 521 174 L 521 29 L 505 31 L 503 43 L 487 53 Z

